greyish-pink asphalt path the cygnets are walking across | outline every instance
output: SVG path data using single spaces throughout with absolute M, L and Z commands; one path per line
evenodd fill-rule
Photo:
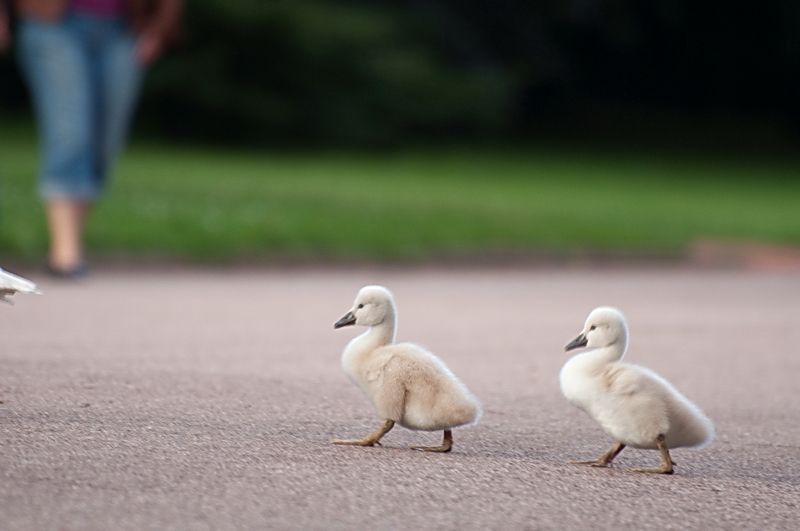
M 800 274 L 689 269 L 100 271 L 0 306 L 0 529 L 796 530 Z M 366 284 L 398 340 L 481 399 L 449 454 L 380 419 L 334 330 Z M 589 311 L 714 421 L 703 449 L 612 441 L 558 389 Z

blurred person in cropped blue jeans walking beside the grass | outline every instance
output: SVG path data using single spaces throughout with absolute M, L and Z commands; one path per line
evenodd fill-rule
M 183 0 L 0 0 L 36 111 L 48 269 L 86 273 L 83 229 L 125 143 L 142 75 L 174 37 Z

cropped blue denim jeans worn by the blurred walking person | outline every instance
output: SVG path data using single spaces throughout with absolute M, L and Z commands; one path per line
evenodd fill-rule
M 123 20 L 68 13 L 22 18 L 18 54 L 36 109 L 45 201 L 92 201 L 127 136 L 142 69 Z

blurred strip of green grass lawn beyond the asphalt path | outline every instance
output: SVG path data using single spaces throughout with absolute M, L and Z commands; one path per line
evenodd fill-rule
M 41 260 L 29 129 L 0 131 L 0 256 Z M 800 245 L 800 160 L 621 151 L 255 153 L 134 143 L 94 257 L 225 262 L 486 253 L 676 256 L 699 238 Z

